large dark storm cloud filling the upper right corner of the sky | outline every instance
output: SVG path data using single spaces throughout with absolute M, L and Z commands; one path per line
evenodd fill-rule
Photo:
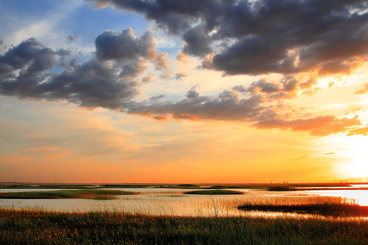
M 348 73 L 368 54 L 367 0 L 92 0 L 181 35 L 183 52 L 227 75 Z

